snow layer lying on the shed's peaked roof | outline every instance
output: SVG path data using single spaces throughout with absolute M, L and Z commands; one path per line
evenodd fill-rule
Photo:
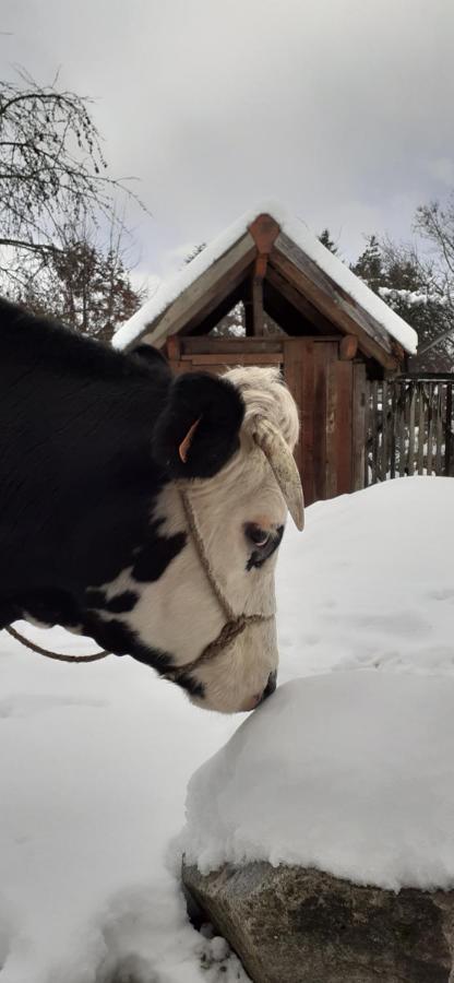
M 135 341 L 145 328 L 164 313 L 169 305 L 202 273 L 205 273 L 219 257 L 224 256 L 246 234 L 248 226 L 258 215 L 263 213 L 272 215 L 282 232 L 292 239 L 321 270 L 370 313 L 408 353 L 416 353 L 418 344 L 416 331 L 387 307 L 381 297 L 369 289 L 338 257 L 330 252 L 306 223 L 289 217 L 283 206 L 273 201 L 262 201 L 254 209 L 246 212 L 181 271 L 168 280 L 162 281 L 153 297 L 132 318 L 120 325 L 113 337 L 115 347 L 124 348 Z

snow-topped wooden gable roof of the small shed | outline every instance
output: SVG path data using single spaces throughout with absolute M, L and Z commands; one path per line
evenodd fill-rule
M 242 215 L 180 272 L 163 281 L 118 329 L 113 345 L 128 348 L 146 334 L 159 347 L 169 334 L 189 333 L 204 321 L 210 330 L 207 319 L 211 315 L 220 319 L 236 303 L 262 250 L 270 291 L 284 292 L 286 300 L 315 325 L 319 318 L 342 333 L 355 334 L 361 351 L 387 368 L 396 367 L 403 352 L 416 352 L 416 331 L 302 222 L 268 203 Z

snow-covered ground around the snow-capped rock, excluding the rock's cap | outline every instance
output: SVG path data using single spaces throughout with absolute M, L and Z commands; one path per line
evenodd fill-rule
M 453 507 L 452 479 L 402 478 L 312 506 L 302 535 L 289 524 L 277 576 L 280 682 L 348 670 L 347 685 L 353 670 L 369 668 L 359 675 L 372 682 L 380 670 L 390 675 L 379 685 L 415 729 L 394 675 L 413 674 L 413 691 L 427 691 L 432 709 L 441 690 L 445 720 L 454 688 L 446 680 L 454 675 Z M 45 638 L 81 649 L 58 630 Z M 311 695 L 314 726 L 324 722 L 327 731 L 333 679 L 285 687 L 248 719 L 237 743 L 262 729 L 271 749 L 286 735 L 278 721 L 294 700 L 303 708 Z M 343 706 L 332 708 L 333 737 Z M 430 707 L 421 753 L 433 748 Z M 243 721 L 196 710 L 132 660 L 68 666 L 0 636 L 0 983 L 247 979 L 220 940 L 190 927 L 175 876 L 188 781 Z M 354 747 L 351 734 L 345 739 Z M 430 754 L 428 773 L 440 757 Z

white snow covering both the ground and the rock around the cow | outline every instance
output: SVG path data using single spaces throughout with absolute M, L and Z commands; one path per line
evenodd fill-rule
M 249 718 L 198 710 L 128 658 L 68 666 L 0 635 L 0 983 L 247 980 L 179 891 L 198 770 L 184 839 L 207 865 L 306 850 L 361 883 L 451 885 L 453 506 L 451 478 L 401 478 L 311 506 L 302 535 L 289 523 L 285 685 Z

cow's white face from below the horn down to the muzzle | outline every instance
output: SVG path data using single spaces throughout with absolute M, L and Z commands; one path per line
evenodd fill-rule
M 274 568 L 287 509 L 259 449 L 251 451 L 248 464 L 242 482 L 234 461 L 216 479 L 195 482 L 189 490 L 223 596 L 236 616 L 264 618 L 248 625 L 232 643 L 191 671 L 191 678 L 203 687 L 203 696 L 195 692 L 193 702 L 226 713 L 253 709 L 272 685 L 270 677 L 275 676 L 278 662 Z M 171 516 L 165 526 L 169 533 L 187 529 L 175 488 L 167 489 L 159 505 Z M 146 619 L 148 603 L 154 612 L 155 644 L 170 652 L 178 667 L 196 660 L 226 623 L 191 537 L 154 590 L 153 585 L 146 589 L 135 618 Z

